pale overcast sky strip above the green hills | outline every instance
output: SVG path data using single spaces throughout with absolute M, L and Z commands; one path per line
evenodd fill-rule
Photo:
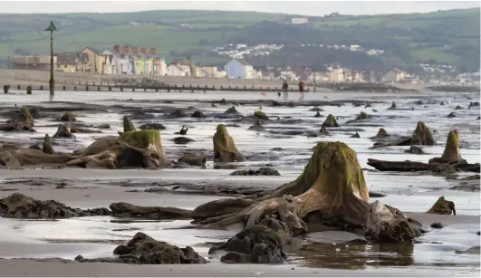
M 398 14 L 479 7 L 479 1 L 0 1 L 0 14 L 225 10 L 284 14 Z

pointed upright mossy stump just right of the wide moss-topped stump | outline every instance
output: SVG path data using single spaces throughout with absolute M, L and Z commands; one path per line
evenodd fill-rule
M 221 162 L 244 161 L 244 156 L 237 150 L 234 139 L 230 137 L 226 126 L 217 125 L 216 134 L 213 137 L 214 159 Z

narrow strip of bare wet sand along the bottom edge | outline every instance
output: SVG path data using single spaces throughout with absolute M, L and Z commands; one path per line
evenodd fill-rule
M 0 260 L 2 275 L 10 277 L 475 277 L 476 273 L 457 271 L 371 269 L 363 272 L 336 269 L 312 269 L 290 265 L 206 264 L 206 265 L 129 265 L 91 263 L 86 267 L 79 263 L 35 262 L 31 260 Z

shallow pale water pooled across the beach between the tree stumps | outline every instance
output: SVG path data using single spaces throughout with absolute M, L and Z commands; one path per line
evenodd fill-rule
M 54 105 L 61 106 L 63 104 L 50 102 L 49 96 L 45 91 L 34 91 L 34 95 L 26 96 L 24 94 L 13 94 L 2 96 L 0 107 L 12 107 L 14 103 L 20 105 Z M 258 93 L 153 93 L 153 92 L 91 92 L 91 91 L 58 91 L 53 101 L 76 101 L 91 104 L 102 105 L 123 105 L 136 107 L 188 107 L 194 106 L 201 110 L 210 112 L 223 112 L 231 105 L 216 104 L 216 108 L 212 108 L 210 104 L 198 103 L 201 101 L 219 101 L 225 98 L 227 101 L 245 101 L 245 100 L 278 100 L 276 94 L 261 96 Z M 126 101 L 132 99 L 133 101 Z M 160 101 L 171 100 L 173 104 L 165 104 Z M 361 93 L 308 93 L 304 101 L 333 101 L 333 100 L 358 100 L 358 101 L 384 101 L 382 103 L 372 103 L 370 108 L 354 107 L 350 103 L 337 106 L 321 106 L 322 118 L 314 118 L 315 112 L 309 111 L 313 108 L 310 106 L 301 106 L 295 108 L 288 107 L 263 107 L 263 110 L 269 117 L 279 116 L 284 118 L 290 116 L 293 119 L 304 120 L 302 123 L 294 124 L 266 124 L 266 128 L 283 127 L 286 128 L 303 128 L 313 131 L 320 129 L 325 117 L 332 113 L 339 117 L 338 122 L 342 126 L 341 129 L 359 128 L 365 131 L 358 131 L 361 135 L 360 139 L 350 138 L 355 131 L 342 131 L 330 129 L 331 137 L 325 138 L 308 138 L 306 136 L 291 136 L 284 139 L 267 138 L 263 133 L 246 130 L 251 124 L 239 122 L 240 127 L 227 128 L 229 134 L 235 139 L 236 147 L 245 154 L 263 153 L 262 156 L 256 158 L 255 161 L 246 161 L 244 163 L 235 163 L 236 168 L 259 168 L 261 165 L 270 164 L 273 168 L 281 173 L 281 177 L 255 177 L 256 180 L 264 182 L 272 181 L 272 187 L 279 186 L 285 181 L 293 180 L 302 171 L 303 167 L 311 157 L 311 149 L 319 141 L 338 141 L 347 143 L 352 149 L 358 153 L 359 162 L 362 168 L 370 167 L 367 165 L 368 158 L 376 158 L 381 160 L 414 160 L 427 162 L 429 158 L 439 157 L 444 149 L 447 132 L 451 129 L 457 129 L 461 139 L 461 153 L 463 158 L 470 163 L 480 162 L 480 121 L 476 120 L 479 116 L 479 107 L 471 110 L 467 109 L 470 101 L 479 101 L 479 94 L 475 93 L 420 93 L 420 94 L 361 94 Z M 444 101 L 446 105 L 424 104 L 415 105 L 413 102 L 423 100 L 428 101 Z M 176 102 L 180 101 L 180 102 Z M 282 101 L 282 100 L 278 100 Z M 299 101 L 293 98 L 293 101 Z M 406 110 L 387 110 L 391 101 L 396 101 L 399 109 Z M 43 103 L 44 102 L 44 103 Z M 455 110 L 457 105 L 462 106 L 463 110 Z M 415 110 L 411 110 L 414 107 Z M 242 105 L 237 106 L 236 110 L 244 115 L 249 115 L 258 108 L 258 105 Z M 373 111 L 377 110 L 377 111 Z M 353 120 L 361 111 L 365 111 L 372 116 L 372 119 L 366 122 L 379 125 L 378 127 L 355 126 L 345 123 Z M 457 118 L 449 119 L 447 114 L 455 111 Z M 60 116 L 61 113 L 59 113 Z M 106 135 L 117 135 L 117 130 L 121 130 L 121 117 L 123 115 L 114 112 L 101 112 L 95 114 L 84 114 L 82 111 L 76 112 L 77 120 L 88 124 L 110 123 L 111 129 L 102 130 L 102 134 L 79 134 L 73 141 L 60 141 L 59 145 L 53 145 L 58 151 L 72 151 L 86 147 L 95 138 Z M 160 116 L 160 115 L 157 115 Z M 6 120 L 6 119 L 0 119 Z M 430 129 L 434 129 L 435 139 L 438 141 L 437 146 L 423 148 L 425 155 L 411 155 L 404 153 L 407 147 L 393 147 L 389 149 L 369 149 L 373 142 L 369 139 L 374 136 L 380 127 L 386 129 L 390 134 L 408 135 L 412 132 L 418 120 L 423 120 Z M 135 126 L 139 126 L 139 121 L 133 120 Z M 162 144 L 168 154 L 178 153 L 182 149 L 212 149 L 212 135 L 215 133 L 216 124 L 221 122 L 233 123 L 227 120 L 203 121 L 193 120 L 191 118 L 173 119 L 173 120 L 142 120 L 142 122 L 160 122 L 166 126 L 166 130 L 161 132 Z M 0 137 L 9 139 L 30 139 L 31 144 L 43 141 L 43 134 L 53 135 L 56 127 L 44 127 L 59 123 L 56 121 L 36 120 L 35 129 L 37 133 L 3 133 Z M 186 124 L 189 128 L 188 138 L 195 139 L 188 145 L 175 145 L 170 139 L 178 137 L 174 132 L 178 131 L 182 125 Z M 359 123 L 358 123 L 359 124 Z M 273 148 L 282 148 L 282 151 L 272 151 Z M 177 159 L 177 158 L 176 158 Z M 126 174 L 111 174 L 111 177 L 105 177 L 109 180 L 121 178 L 149 178 L 149 180 L 163 179 L 162 173 L 170 173 L 177 171 L 179 177 L 184 179 L 192 178 L 194 180 L 223 179 L 223 178 L 239 178 L 245 179 L 245 183 L 251 180 L 251 177 L 229 177 L 228 174 L 232 169 L 216 169 L 212 161 L 207 162 L 207 169 L 182 169 L 182 170 L 163 170 L 163 171 L 138 171 L 138 174 L 125 172 Z M 111 171 L 112 172 L 112 171 Z M 95 179 L 104 177 L 103 174 L 95 174 L 97 172 L 85 170 L 83 179 Z M 103 173 L 103 172 L 102 172 Z M 184 174 L 186 173 L 186 174 Z M 21 173 L 14 176 L 22 177 Z M 41 170 L 38 175 L 43 176 Z M 77 174 L 76 174 L 77 175 Z M 180 176 L 182 175 L 182 176 Z M 422 213 L 428 210 L 432 204 L 440 196 L 446 197 L 448 200 L 454 201 L 457 206 L 457 215 L 459 216 L 480 216 L 480 197 L 478 192 L 455 191 L 450 188 L 454 184 L 447 181 L 443 177 L 418 176 L 410 173 L 382 173 L 376 171 L 364 171 L 366 182 L 372 191 L 385 194 L 387 197 L 376 198 L 380 202 L 398 207 L 404 212 Z M 2 177 L 0 177 L 2 178 Z M 175 180 L 175 177 L 170 177 Z M 10 193 L 3 192 L 2 196 Z M 184 208 L 193 208 L 199 204 L 206 202 L 213 197 L 196 197 L 196 196 L 162 196 L 159 200 L 168 200 L 169 206 L 181 206 Z M 121 200 L 120 200 L 121 201 Z M 137 199 L 136 205 L 149 205 L 149 202 L 142 202 Z M 149 204 L 148 204 L 149 203 Z M 82 206 L 81 201 L 74 204 L 67 203 L 70 206 Z M 161 205 L 166 206 L 166 205 Z M 10 252 L 8 249 L 0 251 L 0 257 L 52 257 L 59 256 L 72 259 L 77 254 L 84 257 L 107 256 L 111 255 L 114 244 L 105 242 L 99 244 L 82 242 L 83 240 L 126 240 L 134 235 L 137 230 L 114 231 L 118 229 L 139 228 L 148 235 L 159 240 L 167 241 L 170 244 L 179 246 L 193 245 L 194 248 L 202 255 L 207 256 L 207 246 L 201 245 L 205 242 L 216 242 L 234 235 L 235 231 L 197 231 L 197 230 L 165 230 L 168 227 L 176 227 L 188 225 L 188 221 L 174 222 L 152 222 L 152 223 L 132 223 L 119 224 L 111 223 L 110 217 L 87 217 L 82 219 L 68 219 L 56 222 L 47 221 L 21 221 L 12 219 L 0 219 L 0 244 L 10 242 L 17 244 L 19 249 L 24 250 Z M 429 223 L 426 223 L 429 225 Z M 465 250 L 470 246 L 479 244 L 479 236 L 476 231 L 479 226 L 473 227 L 468 225 L 449 225 L 448 227 L 436 230 L 421 237 L 421 243 L 414 246 L 367 246 L 352 245 L 348 248 L 334 248 L 331 244 L 313 244 L 307 246 L 305 250 L 298 254 L 292 254 L 293 264 L 307 264 L 312 267 L 326 268 L 355 268 L 364 269 L 369 267 L 399 267 L 409 266 L 409 269 L 421 267 L 444 267 L 450 270 L 461 268 L 468 273 L 479 272 L 479 255 L 473 254 L 455 254 L 456 250 Z M 174 232 L 175 231 L 175 232 Z M 200 236 L 200 237 L 199 237 Z M 47 242 L 55 242 L 47 244 Z M 76 243 L 72 243 L 77 241 Z M 81 241 L 82 243 L 78 243 Z M 63 242 L 63 243 L 59 243 Z M 441 244 L 433 244 L 438 242 Z M 17 246 L 15 245 L 15 246 Z M 25 247 L 25 246 L 31 247 Z M 34 246 L 34 247 L 32 247 Z M 82 247 L 80 247 L 82 246 Z M 22 249 L 24 248 L 24 249 Z M 218 261 L 216 257 L 209 257 L 213 262 Z

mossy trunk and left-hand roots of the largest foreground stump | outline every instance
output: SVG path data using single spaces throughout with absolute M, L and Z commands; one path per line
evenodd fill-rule
M 200 224 L 218 227 L 245 222 L 249 226 L 277 212 L 291 228 L 305 232 L 301 218 L 312 211 L 322 210 L 360 225 L 367 223 L 370 211 L 357 154 L 342 142 L 319 143 L 300 177 L 257 201 L 236 214 L 208 218 Z

